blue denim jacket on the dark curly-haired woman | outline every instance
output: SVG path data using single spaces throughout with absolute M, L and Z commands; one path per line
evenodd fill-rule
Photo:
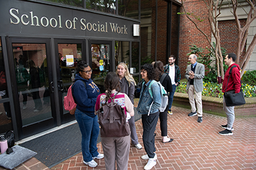
M 146 85 L 143 85 L 140 92 L 140 101 L 138 103 L 137 111 L 138 114 L 145 115 L 148 114 L 148 110 L 150 108 L 150 104 L 154 99 L 154 103 L 151 106 L 150 114 L 156 113 L 158 108 L 161 106 L 161 94 L 160 94 L 160 87 L 157 83 L 153 83 L 151 86 L 153 99 L 150 97 L 148 92 L 148 86 L 152 80 L 148 81 Z M 145 89 L 146 88 L 146 89 Z M 145 89 L 145 90 L 144 90 Z

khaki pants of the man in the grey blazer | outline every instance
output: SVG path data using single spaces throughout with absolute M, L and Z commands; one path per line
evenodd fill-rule
M 197 115 L 198 117 L 203 116 L 203 108 L 202 108 L 202 92 L 196 92 L 194 85 L 189 85 L 188 89 L 188 98 L 191 106 L 191 111 L 196 111 L 197 106 Z M 196 99 L 196 105 L 195 105 Z

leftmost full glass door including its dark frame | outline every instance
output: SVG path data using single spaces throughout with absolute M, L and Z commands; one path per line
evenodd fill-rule
M 50 94 L 52 64 L 49 39 L 10 38 L 9 59 L 15 115 L 20 138 L 56 126 L 54 96 Z M 18 127 L 18 128 L 19 128 Z

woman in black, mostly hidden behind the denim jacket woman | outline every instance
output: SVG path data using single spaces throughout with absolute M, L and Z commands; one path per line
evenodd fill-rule
M 160 82 L 164 89 L 166 90 L 166 92 L 172 92 L 172 80 L 170 78 L 170 76 L 166 73 L 164 73 L 164 64 L 163 62 L 156 61 L 154 64 L 154 68 L 157 74 L 157 81 L 161 80 L 162 76 L 165 76 L 165 78 L 163 79 L 163 82 Z M 169 105 L 168 105 L 169 106 Z M 163 137 L 162 142 L 163 143 L 168 143 L 168 142 L 172 142 L 173 139 L 170 139 L 167 137 L 167 113 L 168 113 L 168 106 L 166 107 L 166 109 L 163 112 L 159 113 L 159 119 L 160 119 L 160 129 L 161 129 L 161 136 Z

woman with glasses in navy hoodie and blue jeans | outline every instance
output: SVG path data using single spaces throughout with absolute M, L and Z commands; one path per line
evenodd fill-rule
M 96 167 L 97 162 L 94 159 L 102 159 L 104 155 L 97 151 L 99 124 L 98 118 L 94 114 L 95 103 L 100 90 L 93 83 L 91 76 L 91 67 L 85 61 L 79 61 L 76 66 L 72 92 L 77 103 L 75 116 L 82 134 L 83 162 L 90 167 Z

